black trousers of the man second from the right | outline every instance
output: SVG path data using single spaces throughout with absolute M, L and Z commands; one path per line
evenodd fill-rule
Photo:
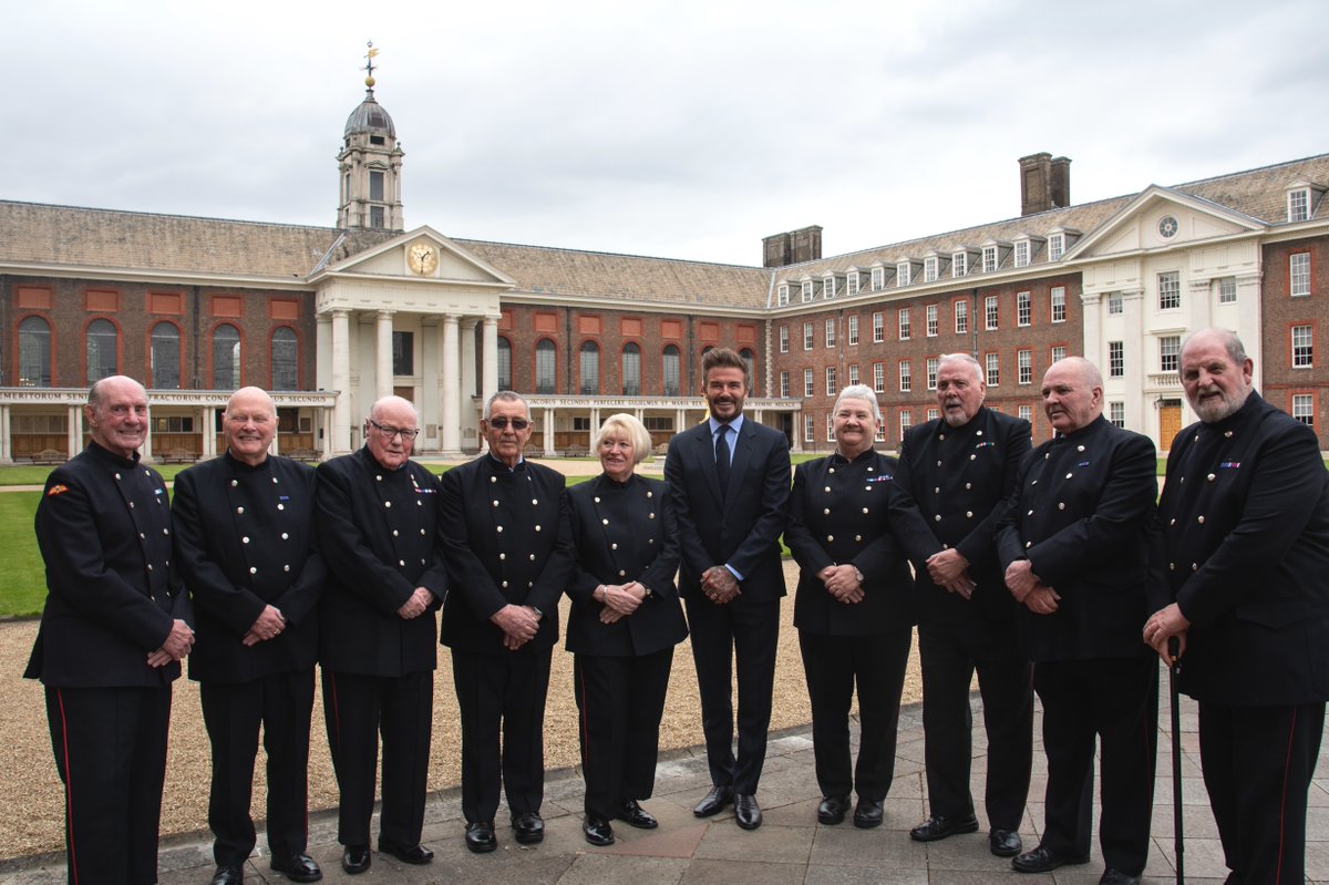
M 1043 846 L 1087 854 L 1094 739 L 1102 777 L 1098 840 L 1107 866 L 1140 876 L 1150 852 L 1158 760 L 1159 664 L 1154 655 L 1034 666 L 1043 702 L 1047 793 Z

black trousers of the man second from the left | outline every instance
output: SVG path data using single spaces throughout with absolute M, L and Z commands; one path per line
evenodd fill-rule
M 310 718 L 314 670 L 276 672 L 254 682 L 202 682 L 203 724 L 213 745 L 207 825 L 218 866 L 241 866 L 254 850 L 254 759 L 259 727 L 267 756 L 267 845 L 274 857 L 308 846 Z

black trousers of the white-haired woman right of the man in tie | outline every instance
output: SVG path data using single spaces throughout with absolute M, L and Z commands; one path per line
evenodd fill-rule
M 881 801 L 896 776 L 900 692 L 913 630 L 869 637 L 799 631 L 803 671 L 812 700 L 812 755 L 823 796 Z M 849 706 L 859 687 L 859 761 L 849 767 Z

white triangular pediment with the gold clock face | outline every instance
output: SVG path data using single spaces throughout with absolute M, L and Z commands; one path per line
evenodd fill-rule
M 514 280 L 429 226 L 416 227 L 372 248 L 331 260 L 311 282 L 324 276 L 376 276 L 510 288 Z

